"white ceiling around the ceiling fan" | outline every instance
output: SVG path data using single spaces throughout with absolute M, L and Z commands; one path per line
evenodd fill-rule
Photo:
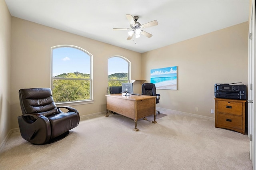
M 248 21 L 249 0 L 6 0 L 12 16 L 144 53 Z M 126 40 L 126 14 L 151 38 Z

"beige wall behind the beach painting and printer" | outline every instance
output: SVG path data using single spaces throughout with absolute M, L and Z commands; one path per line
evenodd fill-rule
M 215 83 L 248 85 L 248 22 L 142 54 L 148 82 L 150 69 L 171 66 L 178 66 L 178 90 L 157 90 L 157 107 L 214 118 Z

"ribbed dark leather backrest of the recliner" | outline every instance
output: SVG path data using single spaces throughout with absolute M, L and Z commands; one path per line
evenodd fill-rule
M 58 113 L 50 88 L 20 89 L 19 97 L 23 115 L 38 113 L 47 117 Z

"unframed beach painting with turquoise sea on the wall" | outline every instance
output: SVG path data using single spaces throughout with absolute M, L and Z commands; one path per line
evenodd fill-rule
M 150 83 L 156 89 L 177 90 L 177 66 L 150 70 Z

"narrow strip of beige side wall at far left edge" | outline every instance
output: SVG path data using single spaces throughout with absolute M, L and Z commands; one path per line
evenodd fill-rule
M 11 129 L 11 15 L 5 1 L 0 0 L 0 144 Z

